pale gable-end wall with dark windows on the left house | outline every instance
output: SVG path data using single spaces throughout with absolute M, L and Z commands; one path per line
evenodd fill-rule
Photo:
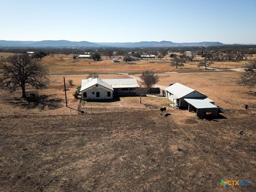
M 84 92 L 86 92 L 86 98 L 84 98 Z M 92 92 L 94 92 L 94 94 L 92 94 Z M 100 97 L 97 97 L 97 92 L 100 93 Z M 110 92 L 110 97 L 108 97 L 108 92 Z M 81 92 L 81 98 L 82 100 L 94 100 L 94 99 L 112 99 L 113 98 L 113 91 L 109 90 L 106 87 L 100 86 L 98 85 L 98 87 L 96 85 L 83 90 Z

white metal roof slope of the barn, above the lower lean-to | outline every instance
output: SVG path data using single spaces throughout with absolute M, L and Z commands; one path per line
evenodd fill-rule
M 182 98 L 182 97 L 192 93 L 193 91 L 195 91 L 194 89 L 187 87 L 185 85 L 182 85 L 178 82 L 165 88 L 165 90 L 168 91 L 169 93 L 175 95 L 176 99 Z

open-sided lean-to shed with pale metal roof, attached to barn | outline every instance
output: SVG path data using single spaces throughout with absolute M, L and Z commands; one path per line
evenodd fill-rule
M 204 99 L 188 99 L 184 98 L 188 102 L 188 111 L 196 111 L 196 116 L 203 116 L 203 112 L 211 112 L 213 116 L 218 115 L 218 107 Z

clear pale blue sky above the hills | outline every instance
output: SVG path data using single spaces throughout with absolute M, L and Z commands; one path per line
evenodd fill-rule
M 0 0 L 0 40 L 256 44 L 256 0 Z

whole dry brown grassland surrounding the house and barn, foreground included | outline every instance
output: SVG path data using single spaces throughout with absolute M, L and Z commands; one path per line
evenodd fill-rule
M 204 70 L 189 62 L 176 69 L 167 57 L 115 64 L 47 56 L 42 64 L 52 73 L 96 72 L 99 78 L 139 78 L 138 72 L 153 70 L 160 72 L 158 85 L 180 82 L 226 110 L 209 121 L 147 96 L 142 104 L 139 97 L 82 102 L 87 113 L 78 114 L 72 93 L 88 74 L 50 75 L 35 103 L 20 98 L 20 91 L 1 90 L 0 191 L 256 191 L 256 94 L 238 86 L 239 70 L 212 70 L 245 62 L 216 62 Z M 162 105 L 166 115 L 160 115 Z M 224 188 L 221 180 L 250 186 Z

